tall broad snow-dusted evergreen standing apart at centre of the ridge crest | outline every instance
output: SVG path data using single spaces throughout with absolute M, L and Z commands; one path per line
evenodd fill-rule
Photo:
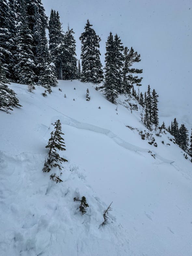
M 96 35 L 92 25 L 87 20 L 85 32 L 79 37 L 81 41 L 81 81 L 101 83 L 103 81 L 103 70 L 100 61 L 99 42 L 101 38 Z

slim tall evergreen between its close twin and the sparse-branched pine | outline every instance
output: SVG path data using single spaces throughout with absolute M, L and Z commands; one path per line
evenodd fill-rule
M 117 36 L 117 34 L 114 36 L 114 63 L 116 66 L 116 86 L 117 86 L 117 92 L 123 93 L 123 81 L 122 81 L 122 67 L 123 67 L 123 45 L 121 43 L 121 39 Z

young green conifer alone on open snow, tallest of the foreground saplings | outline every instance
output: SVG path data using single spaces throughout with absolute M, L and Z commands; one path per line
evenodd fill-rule
M 62 164 L 62 162 L 67 162 L 66 159 L 60 157 L 57 153 L 57 150 L 65 150 L 65 143 L 62 138 L 62 135 L 64 134 L 61 132 L 62 127 L 60 120 L 57 120 L 54 123 L 54 126 L 55 130 L 51 132 L 51 137 L 48 141 L 48 145 L 46 146 L 46 148 L 49 149 L 49 152 L 43 167 L 43 172 L 49 172 L 52 167 L 58 167 L 61 170 L 62 168 L 60 164 Z

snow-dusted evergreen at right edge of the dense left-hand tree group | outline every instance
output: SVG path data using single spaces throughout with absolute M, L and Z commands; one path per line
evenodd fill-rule
M 64 80 L 77 78 L 76 53 L 75 53 L 75 38 L 73 29 L 69 29 L 64 36 L 65 51 L 63 53 L 62 74 Z

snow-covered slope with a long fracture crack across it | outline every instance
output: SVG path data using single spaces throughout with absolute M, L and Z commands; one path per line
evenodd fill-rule
M 23 107 L 0 111 L 0 256 L 192 255 L 192 163 L 167 132 L 153 134 L 158 147 L 141 139 L 142 107 L 131 114 L 125 96 L 114 105 L 78 80 L 47 97 L 42 87 L 11 88 Z M 68 162 L 62 174 L 43 173 L 58 119 Z M 73 200 L 82 196 L 83 216 Z

